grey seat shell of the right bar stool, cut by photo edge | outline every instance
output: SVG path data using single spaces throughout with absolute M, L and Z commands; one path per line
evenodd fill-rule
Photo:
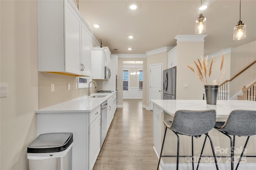
M 256 111 L 234 110 L 220 128 L 230 135 L 252 136 L 256 134 Z

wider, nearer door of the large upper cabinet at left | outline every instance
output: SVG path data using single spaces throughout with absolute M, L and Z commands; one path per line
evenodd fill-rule
M 80 33 L 81 19 L 70 3 L 65 6 L 65 70 L 81 74 L 80 67 Z

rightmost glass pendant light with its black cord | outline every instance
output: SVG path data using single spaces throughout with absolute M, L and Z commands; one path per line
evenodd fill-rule
M 237 26 L 234 27 L 233 40 L 242 40 L 246 37 L 246 25 L 241 21 L 241 0 L 240 0 L 240 18 Z

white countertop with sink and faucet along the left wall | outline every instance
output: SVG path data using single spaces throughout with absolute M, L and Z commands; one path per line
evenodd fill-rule
M 36 110 L 35 113 L 90 113 L 114 94 L 116 94 L 116 92 L 93 93 L 90 96 L 79 97 L 44 109 Z M 94 98 L 92 97 L 94 95 L 106 95 L 106 97 Z

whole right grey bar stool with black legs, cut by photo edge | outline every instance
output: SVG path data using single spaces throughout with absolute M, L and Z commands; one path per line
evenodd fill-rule
M 222 132 L 230 139 L 230 152 L 231 152 L 231 170 L 234 170 L 234 147 L 235 147 L 235 136 L 248 136 L 244 144 L 244 149 L 238 160 L 236 170 L 238 169 L 239 163 L 242 157 L 256 157 L 256 156 L 243 156 L 244 150 L 248 143 L 250 136 L 256 134 L 256 111 L 248 110 L 234 110 L 230 112 L 226 122 L 216 122 L 215 129 Z M 233 142 L 231 135 L 233 135 Z M 225 157 L 225 156 L 224 156 Z

